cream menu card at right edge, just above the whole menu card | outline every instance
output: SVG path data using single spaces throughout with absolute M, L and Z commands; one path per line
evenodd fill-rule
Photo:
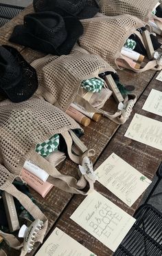
M 162 122 L 152 118 L 135 114 L 125 136 L 162 150 Z

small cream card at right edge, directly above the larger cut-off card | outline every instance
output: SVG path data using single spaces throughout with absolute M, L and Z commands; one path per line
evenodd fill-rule
M 162 116 L 162 92 L 152 89 L 142 109 Z

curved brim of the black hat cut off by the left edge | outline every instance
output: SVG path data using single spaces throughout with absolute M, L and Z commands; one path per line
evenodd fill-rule
M 11 54 L 16 54 L 19 58 L 19 65 L 22 70 L 22 78 L 13 87 L 8 89 L 3 89 L 8 98 L 14 103 L 20 103 L 22 101 L 28 100 L 33 96 L 38 88 L 38 79 L 36 76 L 36 70 L 32 67 L 16 49 L 10 47 L 9 45 L 3 45 Z

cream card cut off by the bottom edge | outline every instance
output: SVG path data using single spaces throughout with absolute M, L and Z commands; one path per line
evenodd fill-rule
M 96 256 L 82 244 L 55 228 L 36 256 Z

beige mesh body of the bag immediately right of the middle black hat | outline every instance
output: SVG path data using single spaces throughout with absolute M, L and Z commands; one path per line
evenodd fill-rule
M 115 60 L 121 57 L 124 43 L 137 28 L 146 25 L 129 14 L 116 17 L 96 17 L 82 21 L 84 34 L 80 36 L 80 46 L 91 54 L 99 54 L 104 61 L 118 69 Z

